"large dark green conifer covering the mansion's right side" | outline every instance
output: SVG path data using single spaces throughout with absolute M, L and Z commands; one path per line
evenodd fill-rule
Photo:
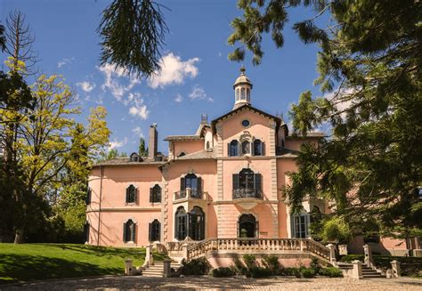
M 259 63 L 262 35 L 277 35 L 287 5 L 300 1 L 239 1 L 243 18 L 233 20 L 237 41 Z M 298 133 L 329 125 L 331 134 L 318 147 L 307 144 L 298 155 L 298 172 L 285 191 L 298 211 L 309 197 L 334 202 L 335 216 L 354 233 L 376 221 L 381 231 L 402 238 L 421 234 L 422 90 L 420 9 L 418 1 L 304 1 L 317 15 L 294 25 L 304 43 L 321 46 L 318 54 L 325 96 L 301 95 L 290 111 Z M 274 10 L 275 9 L 275 10 Z M 263 13 L 261 13 L 264 11 Z M 331 13 L 319 28 L 315 19 Z M 275 40 L 276 45 L 280 42 Z M 252 47 L 249 47 L 251 45 Z M 244 50 L 244 48 L 243 48 Z M 242 48 L 231 54 L 242 60 Z

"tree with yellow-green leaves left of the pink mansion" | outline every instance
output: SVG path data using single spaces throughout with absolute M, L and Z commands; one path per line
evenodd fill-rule
M 37 215 L 45 214 L 56 190 L 61 190 L 61 174 L 66 168 L 72 170 L 74 182 L 84 182 L 89 171 L 89 153 L 99 152 L 108 143 L 110 133 L 103 108 L 92 111 L 86 129 L 75 124 L 71 116 L 78 114 L 79 109 L 71 106 L 73 94 L 60 77 L 39 77 L 32 92 L 35 106 L 18 127 L 25 190 L 15 197 L 19 217 L 14 226 L 15 243 L 23 242 L 31 223 L 39 221 Z

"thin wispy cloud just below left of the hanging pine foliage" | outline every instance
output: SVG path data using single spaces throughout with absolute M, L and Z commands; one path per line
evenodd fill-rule
M 97 69 L 105 77 L 101 90 L 104 92 L 109 90 L 118 101 L 122 101 L 124 94 L 131 91 L 134 85 L 141 83 L 139 78 L 129 76 L 125 69 L 116 68 L 115 65 L 109 63 L 97 67 Z M 127 85 L 122 85 L 122 81 L 125 81 Z

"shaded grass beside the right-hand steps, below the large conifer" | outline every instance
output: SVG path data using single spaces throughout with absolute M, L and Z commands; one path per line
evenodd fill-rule
M 374 263 L 377 267 L 382 269 L 391 269 L 391 261 L 396 260 L 400 262 L 400 269 L 402 276 L 422 278 L 422 257 L 416 256 L 388 256 L 388 255 L 373 255 Z M 363 255 L 344 255 L 341 262 L 352 262 L 360 260 L 363 262 Z

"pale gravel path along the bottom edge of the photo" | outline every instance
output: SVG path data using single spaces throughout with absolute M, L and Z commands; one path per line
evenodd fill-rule
M 28 283 L 1 287 L 0 290 L 422 290 L 422 279 L 217 279 L 187 277 L 157 279 L 142 277 L 108 277 L 96 279 L 69 279 Z

